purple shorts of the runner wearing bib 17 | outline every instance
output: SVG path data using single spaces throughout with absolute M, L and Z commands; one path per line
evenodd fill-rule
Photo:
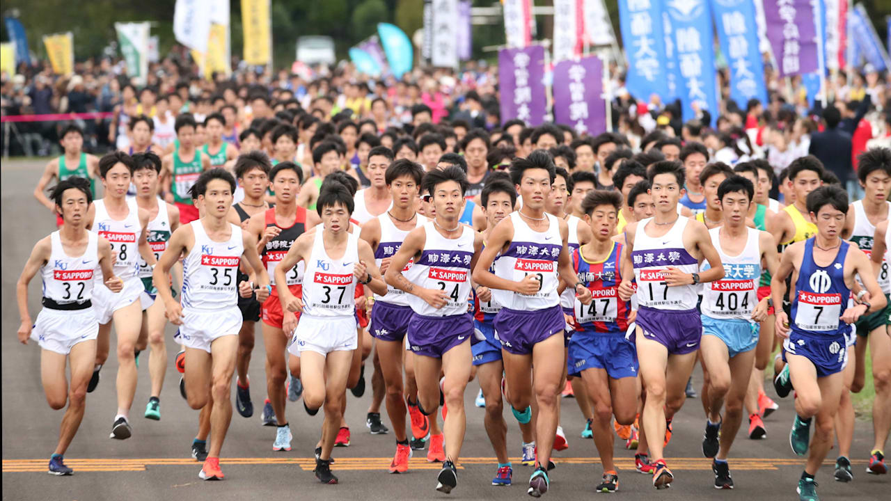
M 684 355 L 699 349 L 702 317 L 695 308 L 674 310 L 641 307 L 637 310 L 635 322 L 646 339 L 665 346 L 669 355 Z

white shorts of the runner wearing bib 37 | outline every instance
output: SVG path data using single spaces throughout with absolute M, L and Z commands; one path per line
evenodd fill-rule
M 328 355 L 331 351 L 352 351 L 358 347 L 356 316 L 300 316 L 290 340 L 288 352 L 300 356 L 301 351 Z

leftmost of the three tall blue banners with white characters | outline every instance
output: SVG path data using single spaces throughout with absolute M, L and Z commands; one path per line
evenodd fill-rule
M 668 87 L 661 0 L 619 0 L 618 15 L 628 61 L 625 88 L 644 102 L 650 100 L 650 94 L 665 97 Z

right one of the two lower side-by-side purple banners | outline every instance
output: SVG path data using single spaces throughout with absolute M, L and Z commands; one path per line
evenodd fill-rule
M 554 66 L 554 122 L 597 136 L 607 130 L 603 101 L 603 62 L 596 56 Z

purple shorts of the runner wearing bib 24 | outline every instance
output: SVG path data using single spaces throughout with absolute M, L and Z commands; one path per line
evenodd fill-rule
M 408 321 L 408 348 L 415 355 L 442 358 L 449 349 L 473 337 L 470 313 L 451 316 L 412 314 Z

